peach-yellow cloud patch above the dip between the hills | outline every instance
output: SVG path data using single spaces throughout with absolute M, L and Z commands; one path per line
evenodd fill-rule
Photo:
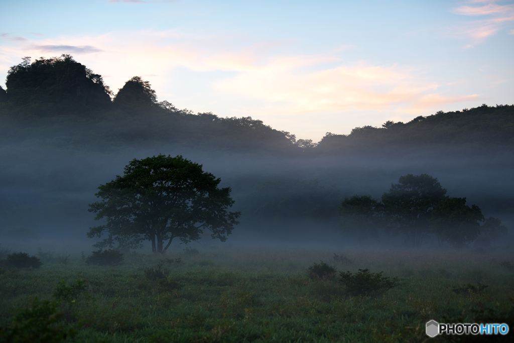
M 295 59 L 284 58 L 242 71 L 216 83 L 223 92 L 282 103 L 289 114 L 339 112 L 348 109 L 419 112 L 477 95 L 444 96 L 435 82 L 421 81 L 412 70 L 396 65 L 344 64 L 305 72 Z M 314 65 L 309 65 L 313 68 Z

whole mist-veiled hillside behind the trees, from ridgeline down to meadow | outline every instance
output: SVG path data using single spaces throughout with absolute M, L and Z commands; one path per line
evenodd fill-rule
M 87 204 L 96 187 L 128 161 L 159 154 L 182 155 L 221 177 L 233 190 L 234 210 L 242 211 L 242 231 L 302 237 L 305 230 L 312 239 L 313 227 L 339 229 L 345 197 L 379 198 L 400 175 L 425 173 L 484 215 L 514 218 L 514 105 L 388 121 L 348 135 L 327 133 L 316 143 L 251 117 L 179 110 L 157 101 L 140 77 L 115 95 L 101 75 L 67 55 L 25 58 L 11 67 L 6 84 L 0 230 L 84 237 L 95 224 Z

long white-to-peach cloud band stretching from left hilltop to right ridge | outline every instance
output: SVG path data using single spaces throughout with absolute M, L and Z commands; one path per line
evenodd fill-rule
M 128 36 L 130 42 L 123 40 Z M 111 77 L 105 79 L 113 89 L 134 75 L 144 75 L 158 93 L 159 88 L 174 82 L 176 70 L 186 69 L 195 79 L 203 80 L 201 87 L 206 92 L 226 99 L 219 101 L 230 100 L 227 106 L 234 98 L 240 104 L 252 103 L 248 105 L 251 109 L 241 111 L 248 115 L 264 111 L 281 115 L 338 113 L 352 109 L 417 113 L 478 97 L 445 94 L 438 82 L 421 77 L 414 67 L 345 61 L 341 49 L 317 55 L 284 55 L 277 51 L 288 42 L 258 42 L 242 47 L 241 37 L 195 37 L 176 31 L 112 32 L 66 39 L 66 44 L 62 41 L 34 42 L 10 55 L 25 56 L 30 50 L 84 54 L 80 62 L 97 73 L 108 71 Z M 99 52 L 101 58 L 90 58 L 89 52 Z

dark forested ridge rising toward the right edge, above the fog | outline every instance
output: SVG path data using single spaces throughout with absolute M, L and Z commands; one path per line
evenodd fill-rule
M 483 104 L 463 111 L 439 111 L 408 123 L 387 121 L 381 128 L 355 128 L 350 135 L 327 133 L 317 145 L 324 152 L 365 147 L 514 146 L 514 105 Z

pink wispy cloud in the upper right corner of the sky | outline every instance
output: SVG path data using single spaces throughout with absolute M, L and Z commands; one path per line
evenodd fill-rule
M 485 5 L 483 5 L 484 3 Z M 453 13 L 459 15 L 485 17 L 485 19 L 468 22 L 456 29 L 458 36 L 471 39 L 471 42 L 465 46 L 466 48 L 482 43 L 486 38 L 514 22 L 514 4 L 499 5 L 497 3 L 498 1 L 495 0 L 469 0 L 468 4 L 471 6 L 463 5 L 452 9 Z

